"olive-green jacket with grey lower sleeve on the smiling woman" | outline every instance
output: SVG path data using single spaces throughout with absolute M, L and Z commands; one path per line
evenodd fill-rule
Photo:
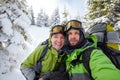
M 36 48 L 21 64 L 21 71 L 28 80 L 32 80 L 35 77 L 35 71 L 33 67 L 40 59 L 42 51 L 44 50 L 46 45 L 41 45 Z M 55 70 L 59 66 L 59 63 L 64 59 L 65 54 L 59 55 L 59 53 L 51 46 L 51 42 L 49 41 L 47 53 L 42 61 L 41 73 L 46 73 Z M 32 77 L 31 77 L 32 75 Z M 34 75 L 34 76 L 33 76 Z M 32 79 L 31 79 L 32 78 Z

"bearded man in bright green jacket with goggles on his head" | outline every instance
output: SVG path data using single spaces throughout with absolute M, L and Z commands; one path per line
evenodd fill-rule
M 69 72 L 70 80 L 91 80 L 89 73 L 83 63 L 73 65 L 83 51 L 90 47 L 97 46 L 97 38 L 93 35 L 85 37 L 82 23 L 77 20 L 70 20 L 66 27 L 66 46 L 64 50 L 67 55 L 66 67 Z M 120 71 L 115 68 L 107 56 L 99 49 L 94 49 L 89 62 L 91 76 L 94 80 L 119 80 Z

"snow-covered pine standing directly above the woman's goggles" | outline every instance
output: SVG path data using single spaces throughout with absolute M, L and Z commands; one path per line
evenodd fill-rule
M 59 14 L 59 8 L 56 8 L 51 16 L 51 27 L 54 25 L 59 25 L 60 24 L 60 14 Z

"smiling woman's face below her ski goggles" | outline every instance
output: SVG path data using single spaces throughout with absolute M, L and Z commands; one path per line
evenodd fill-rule
M 65 37 L 61 33 L 53 34 L 51 37 L 51 42 L 53 48 L 60 50 L 65 43 Z

